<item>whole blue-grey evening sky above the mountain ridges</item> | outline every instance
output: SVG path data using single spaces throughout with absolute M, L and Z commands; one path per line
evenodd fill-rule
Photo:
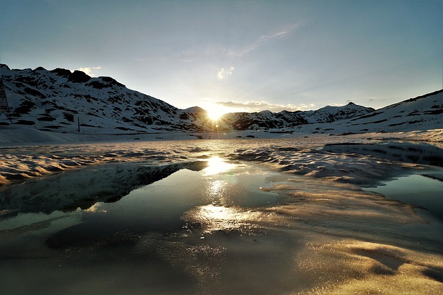
M 442 15 L 442 0 L 0 0 L 0 62 L 178 108 L 381 108 L 443 88 Z

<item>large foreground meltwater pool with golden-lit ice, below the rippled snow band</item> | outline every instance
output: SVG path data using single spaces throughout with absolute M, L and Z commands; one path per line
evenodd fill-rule
M 442 223 L 350 184 L 211 158 L 91 166 L 2 193 L 2 294 L 442 290 Z

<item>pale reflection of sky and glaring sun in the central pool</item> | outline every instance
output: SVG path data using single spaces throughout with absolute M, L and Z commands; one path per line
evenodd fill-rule
M 58 231 L 46 240 L 47 245 L 84 245 L 122 231 L 136 236 L 147 232 L 166 234 L 189 224 L 205 232 L 249 230 L 246 220 L 251 221 L 253 216 L 248 208 L 274 204 L 277 198 L 276 193 L 257 187 L 271 172 L 219 158 L 209 162 L 201 171 L 175 171 L 116 202 L 96 202 L 84 210 L 82 223 Z M 132 236 L 129 238 L 132 241 Z

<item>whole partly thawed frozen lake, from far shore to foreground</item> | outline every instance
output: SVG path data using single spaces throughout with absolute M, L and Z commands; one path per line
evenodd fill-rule
M 1 293 L 441 294 L 441 162 L 325 143 L 5 148 Z

